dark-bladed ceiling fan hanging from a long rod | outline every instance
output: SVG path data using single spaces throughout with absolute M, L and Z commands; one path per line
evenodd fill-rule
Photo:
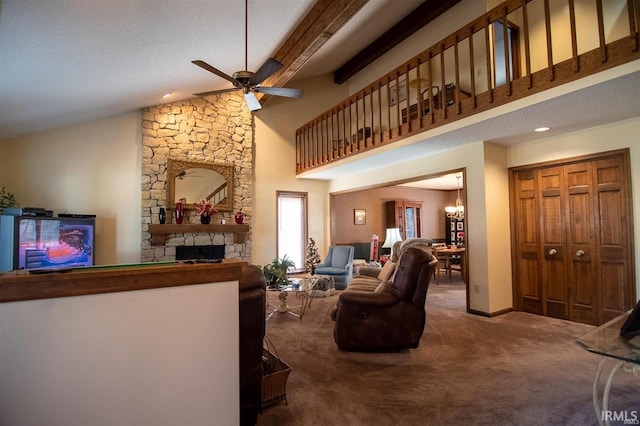
M 265 79 L 269 78 L 271 75 L 275 74 L 283 67 L 283 65 L 277 60 L 275 60 L 274 58 L 267 59 L 267 61 L 264 64 L 262 64 L 262 66 L 255 73 L 251 71 L 247 71 L 247 68 L 248 68 L 247 66 L 247 50 L 248 50 L 247 49 L 247 44 L 248 44 L 247 42 L 247 39 L 248 39 L 247 9 L 248 9 L 248 0 L 245 0 L 245 16 L 244 16 L 244 29 L 245 29 L 244 30 L 244 40 L 245 40 L 244 68 L 245 70 L 237 71 L 233 73 L 233 76 L 230 76 L 220 71 L 219 69 L 212 67 L 211 65 L 207 64 L 202 60 L 191 61 L 197 66 L 209 72 L 214 73 L 218 77 L 222 77 L 225 80 L 230 81 L 231 83 L 233 83 L 233 86 L 234 86 L 232 89 L 213 90 L 211 92 L 195 93 L 195 95 L 204 97 L 204 96 L 209 96 L 216 93 L 242 90 L 244 92 L 244 99 L 247 102 L 247 106 L 249 107 L 249 110 L 251 111 L 256 111 L 262 108 L 262 105 L 260 105 L 260 102 L 258 101 L 258 98 L 255 95 L 256 92 L 264 93 L 266 95 L 285 96 L 287 98 L 299 98 L 300 96 L 302 96 L 301 89 L 291 89 L 286 87 L 263 87 L 260 85 Z

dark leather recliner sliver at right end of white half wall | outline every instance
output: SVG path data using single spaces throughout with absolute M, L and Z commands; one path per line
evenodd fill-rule
M 262 344 L 266 282 L 256 266 L 245 265 L 240 287 L 240 424 L 255 425 L 262 405 Z

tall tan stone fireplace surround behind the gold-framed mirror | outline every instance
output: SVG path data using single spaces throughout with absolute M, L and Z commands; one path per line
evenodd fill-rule
M 193 98 L 142 110 L 142 235 L 141 261 L 176 260 L 178 246 L 224 245 L 225 258 L 251 262 L 251 231 L 243 243 L 233 233 L 184 233 L 167 235 L 164 245 L 152 245 L 149 224 L 159 223 L 166 205 L 167 159 L 206 161 L 233 165 L 233 211 L 218 212 L 212 220 L 234 223 L 235 212 L 245 213 L 251 224 L 253 203 L 253 117 L 241 95 L 223 93 Z M 169 222 L 169 221 L 168 221 Z M 199 223 L 188 211 L 184 223 Z

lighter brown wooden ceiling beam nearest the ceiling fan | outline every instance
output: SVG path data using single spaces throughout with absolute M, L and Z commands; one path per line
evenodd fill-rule
M 273 56 L 284 67 L 262 85 L 282 87 L 302 68 L 311 56 L 369 0 L 318 0 L 302 22 Z M 264 102 L 270 96 L 259 98 Z

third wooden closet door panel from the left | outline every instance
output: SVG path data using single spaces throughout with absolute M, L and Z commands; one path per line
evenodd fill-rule
M 597 323 L 598 277 L 596 274 L 595 205 L 592 163 L 564 167 L 567 184 L 567 248 L 569 251 L 569 319 Z

